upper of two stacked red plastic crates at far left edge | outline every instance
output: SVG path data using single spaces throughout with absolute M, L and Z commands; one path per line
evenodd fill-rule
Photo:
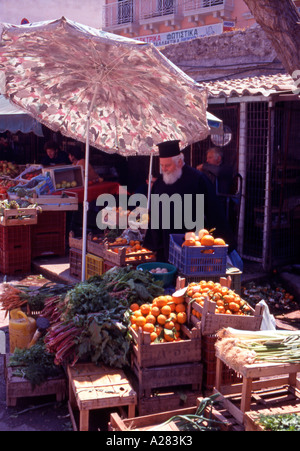
M 30 248 L 30 226 L 1 226 L 0 248 L 4 252 Z

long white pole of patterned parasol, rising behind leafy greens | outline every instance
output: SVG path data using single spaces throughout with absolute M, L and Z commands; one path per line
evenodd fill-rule
M 87 242 L 87 213 L 89 209 L 88 186 L 89 186 L 89 160 L 90 160 L 90 119 L 94 108 L 96 95 L 98 92 L 98 85 L 95 86 L 93 98 L 89 107 L 87 122 L 86 122 L 86 144 L 85 144 L 85 170 L 84 170 L 84 198 L 83 198 L 83 226 L 82 226 L 82 264 L 81 264 L 81 281 L 85 281 L 85 267 L 86 267 L 86 242 Z

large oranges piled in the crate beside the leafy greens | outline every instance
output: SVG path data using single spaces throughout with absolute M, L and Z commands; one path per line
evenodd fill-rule
M 187 321 L 184 297 L 162 295 L 152 303 L 130 306 L 131 327 L 150 333 L 151 342 L 162 343 L 181 339 L 181 325 Z

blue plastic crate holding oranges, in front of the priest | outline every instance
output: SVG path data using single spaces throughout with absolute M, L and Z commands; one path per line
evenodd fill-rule
M 226 273 L 228 245 L 183 246 L 184 235 L 170 235 L 169 262 L 185 276 Z

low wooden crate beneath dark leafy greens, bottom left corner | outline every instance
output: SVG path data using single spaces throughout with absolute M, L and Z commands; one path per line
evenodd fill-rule
M 23 377 L 14 376 L 15 368 L 8 366 L 9 355 L 6 355 L 6 405 L 14 407 L 19 398 L 55 395 L 58 402 L 63 401 L 67 394 L 67 381 L 62 373 L 60 377 L 49 378 L 41 385 L 32 388 L 31 382 Z

